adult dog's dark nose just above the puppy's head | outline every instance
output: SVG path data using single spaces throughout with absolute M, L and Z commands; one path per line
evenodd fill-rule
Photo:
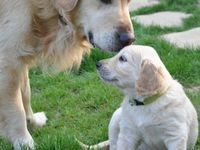
M 119 34 L 119 40 L 123 47 L 132 44 L 135 41 L 134 34 L 132 32 L 121 32 Z

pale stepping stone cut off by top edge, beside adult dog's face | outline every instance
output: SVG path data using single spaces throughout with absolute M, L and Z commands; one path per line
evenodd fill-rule
M 152 6 L 158 4 L 159 0 L 131 0 L 129 11 L 135 11 L 142 7 Z

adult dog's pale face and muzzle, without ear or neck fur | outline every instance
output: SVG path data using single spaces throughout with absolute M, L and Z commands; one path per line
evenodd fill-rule
M 79 0 L 77 25 L 93 46 L 119 51 L 134 41 L 129 1 Z

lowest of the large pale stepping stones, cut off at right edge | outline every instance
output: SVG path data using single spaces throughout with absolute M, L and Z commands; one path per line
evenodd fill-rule
M 200 48 L 200 27 L 183 32 L 165 34 L 162 38 L 180 48 Z

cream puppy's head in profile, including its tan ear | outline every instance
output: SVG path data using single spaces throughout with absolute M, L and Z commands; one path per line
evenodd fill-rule
M 135 96 L 161 93 L 171 78 L 156 51 L 147 46 L 125 47 L 113 58 L 99 61 L 97 69 L 104 81 Z

